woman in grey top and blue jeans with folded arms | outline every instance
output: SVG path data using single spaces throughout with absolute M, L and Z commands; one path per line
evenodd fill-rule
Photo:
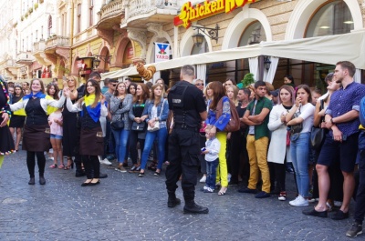
M 115 88 L 114 96 L 110 98 L 111 114 L 111 132 L 113 133 L 118 158 L 117 171 L 126 172 L 123 167 L 124 156 L 128 147 L 128 138 L 130 136 L 130 118 L 128 113 L 132 103 L 132 95 L 127 94 L 127 87 L 123 82 L 118 83 Z M 124 127 L 121 129 L 113 128 L 113 123 L 122 121 Z

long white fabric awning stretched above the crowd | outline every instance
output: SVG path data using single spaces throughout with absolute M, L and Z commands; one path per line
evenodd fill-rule
M 156 70 L 178 68 L 183 65 L 203 65 L 235 59 L 270 55 L 303 61 L 335 65 L 347 60 L 357 68 L 365 69 L 365 31 L 355 31 L 345 35 L 328 35 L 294 40 L 262 42 L 200 55 L 174 58 L 166 62 L 154 63 Z M 102 79 L 137 75 L 135 67 L 102 74 Z

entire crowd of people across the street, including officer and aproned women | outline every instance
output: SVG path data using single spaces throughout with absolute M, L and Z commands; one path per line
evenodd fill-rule
M 278 89 L 264 81 L 237 86 L 233 79 L 204 86 L 194 79 L 191 65 L 183 66 L 181 81 L 169 89 L 163 79 L 152 85 L 129 78 L 106 79 L 100 88 L 100 75 L 93 72 L 84 85 L 69 76 L 62 90 L 56 83 L 46 90 L 34 79 L 9 94 L 2 80 L 0 151 L 3 156 L 15 152 L 22 140 L 29 185 L 35 185 L 36 160 L 39 183 L 46 184 L 44 153 L 50 147 L 54 163 L 49 167 L 68 170 L 75 164 L 76 176 L 87 176 L 81 186 L 96 186 L 106 177 L 100 163 L 116 160 L 115 170 L 126 173 L 128 167 L 139 177 L 147 169 L 160 176 L 166 164 L 168 206 L 180 204 L 175 190 L 181 179 L 188 213 L 208 213 L 193 201 L 199 177 L 203 193 L 224 196 L 229 186 L 241 185 L 240 193 L 286 201 L 286 175 L 294 173 L 297 196 L 288 204 L 318 201 L 303 214 L 319 217 L 339 204 L 332 219 L 341 220 L 349 217 L 353 196 L 355 223 L 347 236 L 357 236 L 365 214 L 365 147 L 359 146 L 365 138 L 359 120 L 365 85 L 354 82 L 354 74 L 354 65 L 339 62 L 324 81 L 325 95 L 295 86 L 291 75 Z M 230 131 L 235 113 L 239 128 Z M 10 128 L 3 128 L 10 116 Z M 323 133 L 316 144 L 314 128 Z

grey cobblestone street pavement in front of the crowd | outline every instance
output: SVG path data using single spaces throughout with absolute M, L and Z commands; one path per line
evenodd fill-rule
M 65 159 L 66 163 L 66 159 Z M 0 240 L 348 240 L 347 220 L 308 217 L 277 196 L 255 199 L 229 187 L 227 195 L 198 191 L 208 215 L 166 206 L 164 176 L 139 178 L 102 166 L 99 186 L 81 187 L 74 170 L 49 169 L 47 185 L 29 186 L 26 152 L 6 156 L 0 169 Z M 37 167 L 36 167 L 37 170 Z M 288 199 L 295 197 L 287 176 Z M 179 185 L 180 186 L 180 185 Z M 183 199 L 181 188 L 177 196 Z M 311 205 L 313 206 L 313 205 Z M 353 212 L 353 204 L 351 206 Z M 362 236 L 358 239 L 363 238 Z M 363 239 L 362 239 L 363 240 Z

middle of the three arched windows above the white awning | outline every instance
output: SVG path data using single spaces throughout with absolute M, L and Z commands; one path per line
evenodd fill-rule
M 261 41 L 266 41 L 265 30 L 259 21 L 255 21 L 245 28 L 244 34 L 238 42 L 238 46 L 258 44 Z

